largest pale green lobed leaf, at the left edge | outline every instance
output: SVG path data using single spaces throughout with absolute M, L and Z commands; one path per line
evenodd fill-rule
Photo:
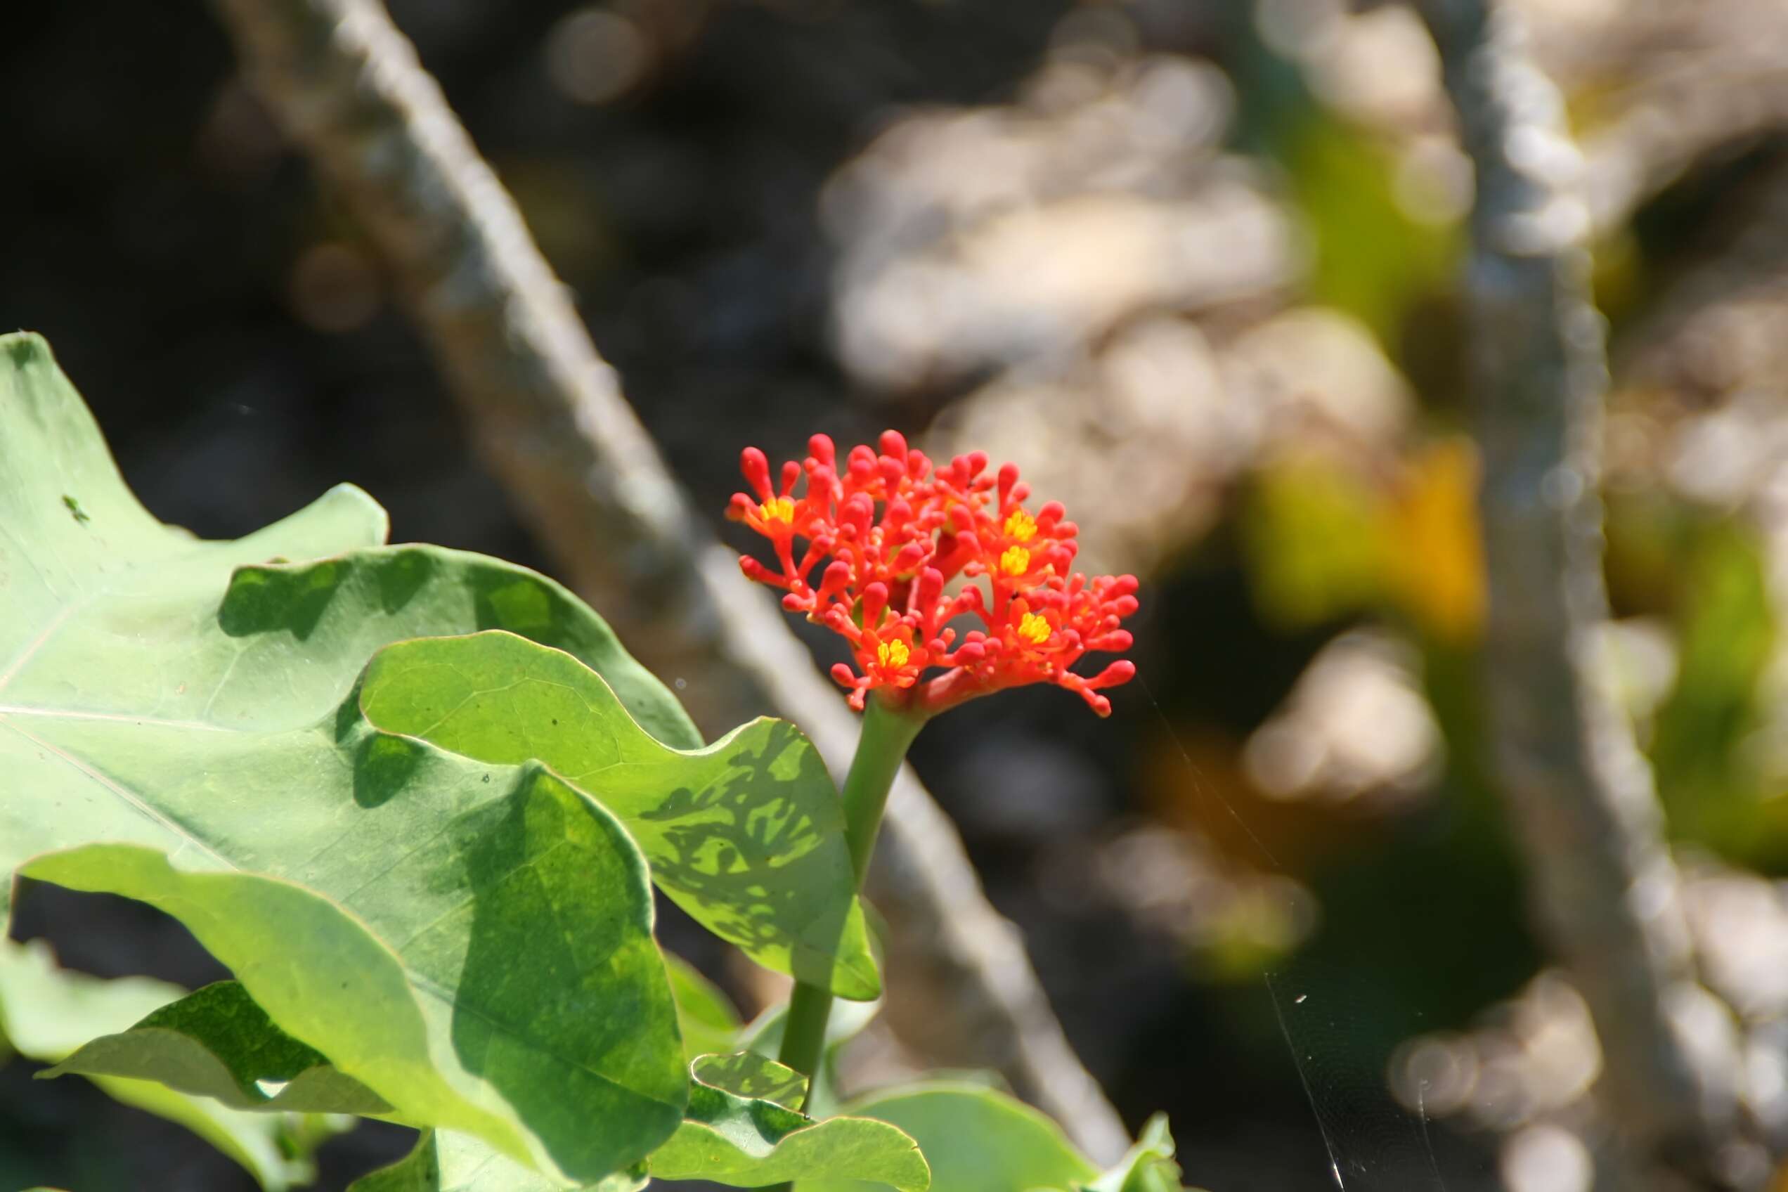
M 383 538 L 352 488 L 238 541 L 157 524 L 43 341 L 0 338 L 0 876 L 161 906 L 393 1117 L 601 1178 L 687 1095 L 644 858 L 538 765 L 375 733 L 354 684 L 501 627 L 694 731 L 551 581 Z

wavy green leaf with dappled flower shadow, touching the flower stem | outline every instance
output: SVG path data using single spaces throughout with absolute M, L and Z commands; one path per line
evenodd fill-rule
M 840 997 L 880 992 L 839 792 L 819 752 L 760 718 L 670 749 L 581 661 L 508 633 L 401 642 L 361 690 L 367 720 L 458 754 L 538 758 L 620 817 L 678 906 L 758 963 Z

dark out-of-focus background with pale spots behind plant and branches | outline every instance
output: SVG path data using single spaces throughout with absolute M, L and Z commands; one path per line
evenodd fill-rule
M 1740 1015 L 1729 1079 L 1779 1137 L 1788 13 L 1507 2 L 1586 154 L 1611 327 L 1597 674 Z M 1166 1110 L 1212 1192 L 1314 1192 L 1332 1167 L 1591 1187 L 1600 1054 L 1486 770 L 1472 166 L 1407 7 L 390 9 L 728 541 L 742 445 L 898 427 L 1019 463 L 1089 570 L 1144 579 L 1143 677 L 1110 720 L 1028 690 L 914 754 L 1132 1129 Z M 156 515 L 236 536 L 345 479 L 395 540 L 549 568 L 204 5 L 16 5 L 0 111 L 0 327 L 48 336 Z M 14 935 L 104 976 L 218 976 L 131 904 L 38 886 Z M 669 913 L 663 935 L 746 1013 L 778 995 Z M 849 1079 L 910 1063 L 881 1026 Z M 0 1185 L 252 1187 L 30 1072 L 0 1067 Z M 318 1187 L 406 1146 L 338 1138 Z

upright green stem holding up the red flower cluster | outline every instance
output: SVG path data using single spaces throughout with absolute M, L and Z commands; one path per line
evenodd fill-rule
M 864 709 L 864 735 L 851 758 L 851 772 L 844 777 L 844 842 L 856 870 L 856 888 L 864 888 L 869 858 L 881 829 L 881 811 L 889 802 L 894 776 L 907 758 L 907 747 L 924 727 L 924 717 L 898 711 L 878 699 Z M 819 1058 L 826 1045 L 826 1019 L 831 1017 L 831 994 L 817 985 L 797 983 L 789 997 L 789 1017 L 783 1020 L 781 1051 L 776 1056 L 808 1078 L 806 1095 L 814 1097 L 819 1081 Z

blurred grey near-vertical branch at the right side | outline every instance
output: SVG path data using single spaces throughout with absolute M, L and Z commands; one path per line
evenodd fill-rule
M 1427 0 L 1446 91 L 1477 168 L 1466 282 L 1480 511 L 1489 568 L 1486 677 L 1498 785 L 1550 949 L 1595 1019 L 1600 1092 L 1645 1188 L 1718 1188 L 1734 1106 L 1704 1079 L 1681 1019 L 1700 994 L 1631 726 L 1591 674 L 1602 581 L 1600 406 L 1582 159 L 1513 13 Z

